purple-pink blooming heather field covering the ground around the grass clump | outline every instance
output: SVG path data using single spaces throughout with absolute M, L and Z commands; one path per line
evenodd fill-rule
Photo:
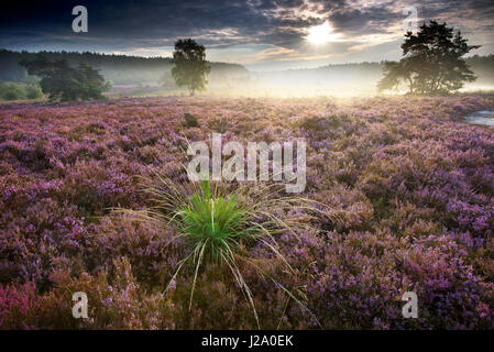
M 297 227 L 242 249 L 266 275 L 239 262 L 262 329 L 493 329 L 494 130 L 462 121 L 493 106 L 492 95 L 2 105 L 0 328 L 257 328 L 226 265 L 189 263 L 172 279 L 187 243 L 127 211 L 153 206 L 139 176 L 186 193 L 187 141 L 220 132 L 307 142 L 298 196 L 318 211 L 278 211 Z M 246 204 L 285 196 L 249 188 Z M 75 292 L 88 319 L 73 317 Z M 405 292 L 417 319 L 402 315 Z

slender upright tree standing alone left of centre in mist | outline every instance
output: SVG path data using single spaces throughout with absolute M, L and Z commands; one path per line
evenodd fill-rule
M 178 40 L 173 53 L 172 76 L 178 87 L 187 87 L 190 96 L 196 90 L 204 90 L 206 75 L 211 67 L 206 62 L 206 50 L 204 45 L 197 44 L 191 38 Z

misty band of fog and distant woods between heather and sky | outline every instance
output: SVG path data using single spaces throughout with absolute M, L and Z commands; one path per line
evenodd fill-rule
M 171 75 L 168 57 L 136 57 L 95 53 L 51 53 L 51 59 L 66 58 L 72 65 L 86 63 L 100 69 L 113 89 L 110 96 L 186 95 Z M 19 61 L 33 53 L 0 51 L 0 82 L 25 82 L 32 79 Z M 477 76 L 463 90 L 494 89 L 494 55 L 466 58 Z M 242 65 L 209 63 L 206 95 L 249 97 L 373 96 L 383 76 L 382 63 L 327 65 L 311 69 L 256 72 Z M 403 91 L 405 92 L 405 91 Z

